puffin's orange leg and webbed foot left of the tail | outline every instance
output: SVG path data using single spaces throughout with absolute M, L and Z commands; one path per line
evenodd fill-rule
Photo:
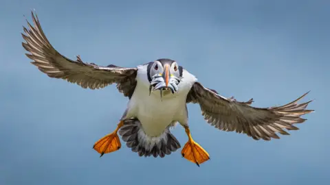
M 117 151 L 122 147 L 122 144 L 120 143 L 119 137 L 118 137 L 118 130 L 120 127 L 124 125 L 124 121 L 120 121 L 117 125 L 117 128 L 111 133 L 107 134 L 107 136 L 104 136 L 103 138 L 100 138 L 94 146 L 93 149 L 95 149 L 98 153 L 101 154 L 100 157 L 103 156 L 104 153 L 110 153 L 113 151 Z

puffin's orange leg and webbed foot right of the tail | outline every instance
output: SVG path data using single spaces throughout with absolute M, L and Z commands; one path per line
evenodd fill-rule
M 199 167 L 199 164 L 210 160 L 210 155 L 208 155 L 208 152 L 192 139 L 188 126 L 184 126 L 184 130 L 188 136 L 188 142 L 184 145 L 181 155 L 190 162 L 194 162 Z

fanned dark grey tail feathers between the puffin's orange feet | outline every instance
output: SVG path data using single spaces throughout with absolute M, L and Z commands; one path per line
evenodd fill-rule
M 138 119 L 125 120 L 119 134 L 122 136 L 122 140 L 126 142 L 127 147 L 137 152 L 139 156 L 164 158 L 181 147 L 177 138 L 170 133 L 168 128 L 160 136 L 147 136 Z

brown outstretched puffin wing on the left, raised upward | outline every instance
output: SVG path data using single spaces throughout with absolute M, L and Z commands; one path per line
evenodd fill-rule
M 29 29 L 23 27 L 22 34 L 26 43 L 22 43 L 28 58 L 40 71 L 49 77 L 66 79 L 83 88 L 104 88 L 116 83 L 120 93 L 125 97 L 131 97 L 136 86 L 136 68 L 123 68 L 119 66 L 98 66 L 94 63 L 86 63 L 77 56 L 77 60 L 70 60 L 58 53 L 47 40 L 39 23 L 38 16 L 32 12 L 34 26 L 28 22 Z

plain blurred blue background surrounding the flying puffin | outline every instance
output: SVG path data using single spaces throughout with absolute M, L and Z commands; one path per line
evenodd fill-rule
M 210 153 L 198 168 L 181 158 L 140 158 L 92 146 L 115 129 L 128 99 L 115 86 L 85 90 L 30 64 L 20 32 L 36 9 L 68 58 L 137 66 L 177 60 L 204 86 L 254 106 L 311 93 L 316 112 L 280 140 L 222 132 L 188 105 L 193 138 Z M 1 0 L 0 184 L 327 184 L 330 144 L 329 1 Z M 181 146 L 184 129 L 173 130 Z

